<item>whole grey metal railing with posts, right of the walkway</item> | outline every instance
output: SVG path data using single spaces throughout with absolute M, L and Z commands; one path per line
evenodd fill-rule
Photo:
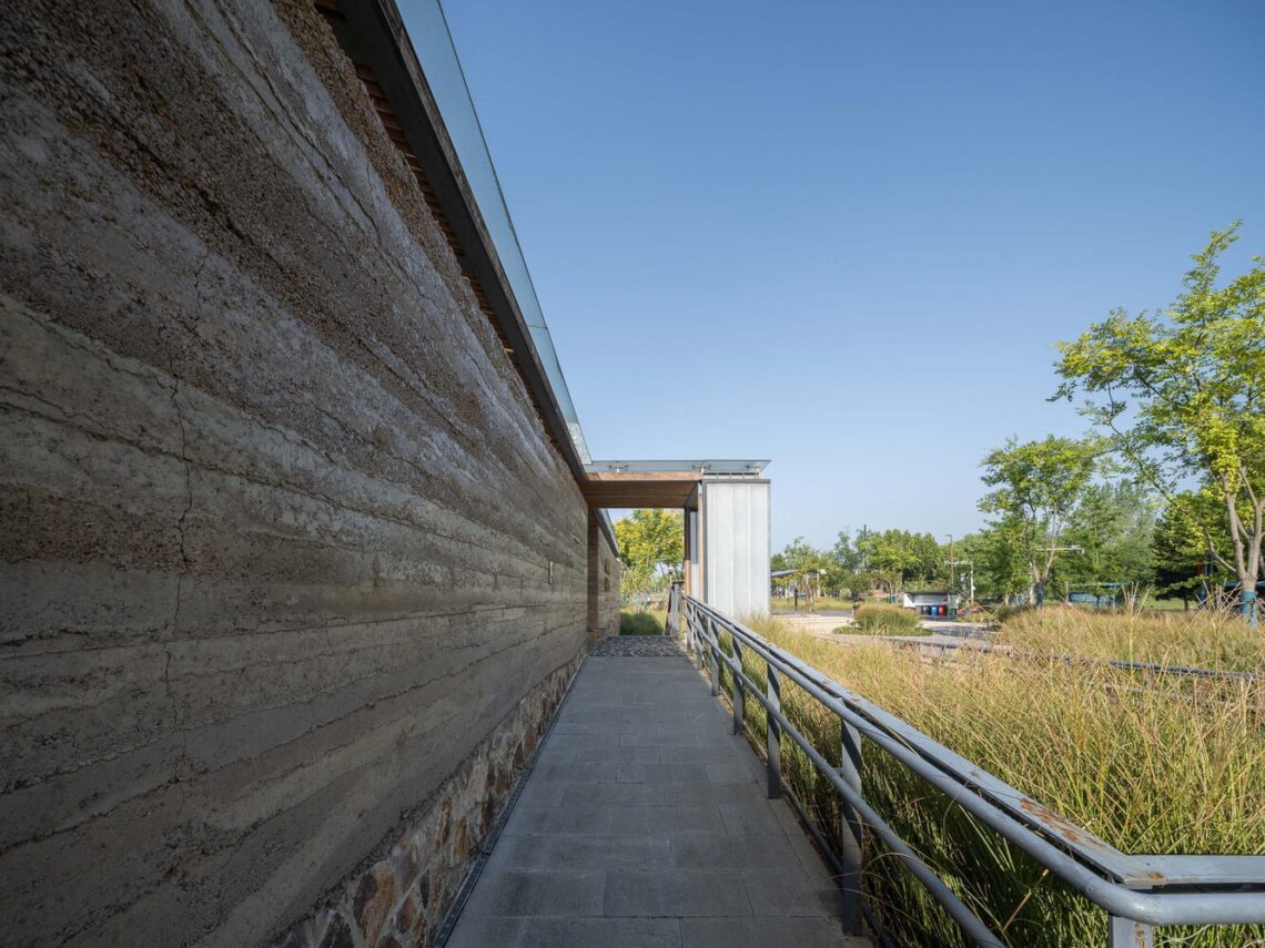
M 864 796 L 861 748 L 873 742 L 954 804 L 1027 853 L 1073 890 L 1107 913 L 1111 948 L 1154 944 L 1159 925 L 1265 923 L 1265 856 L 1135 856 L 1122 853 L 1088 830 L 1065 820 L 899 718 L 888 714 L 837 681 L 759 635 L 674 586 L 668 611 L 669 635 L 683 635 L 700 669 L 706 662 L 712 694 L 720 694 L 721 667 L 729 670 L 734 733 L 746 729 L 744 707 L 758 702 L 768 719 L 769 798 L 786 795 L 835 862 L 845 899 L 845 924 L 853 930 L 867 911 L 861 899 L 863 832 L 870 833 L 949 913 L 975 944 L 1003 945 L 1002 938 L 941 880 L 888 825 Z M 721 641 L 727 635 L 729 648 Z M 746 675 L 743 660 L 767 669 L 762 688 Z M 803 736 L 782 712 L 782 684 L 794 683 L 840 722 L 840 766 Z M 782 779 L 782 737 L 803 752 L 840 798 L 842 832 L 827 841 L 802 800 Z M 1265 789 L 1262 789 L 1265 805 Z

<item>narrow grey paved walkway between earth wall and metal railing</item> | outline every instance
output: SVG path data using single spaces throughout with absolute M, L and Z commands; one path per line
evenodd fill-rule
M 688 660 L 595 651 L 448 947 L 869 945 Z

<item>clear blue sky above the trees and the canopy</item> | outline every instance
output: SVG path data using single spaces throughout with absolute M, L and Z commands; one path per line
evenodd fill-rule
M 1265 254 L 1265 3 L 445 11 L 593 456 L 772 459 L 775 550 L 978 527 L 1056 340 Z

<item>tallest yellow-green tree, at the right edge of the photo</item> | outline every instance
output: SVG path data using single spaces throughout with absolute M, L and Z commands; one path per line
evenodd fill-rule
M 1226 533 L 1207 530 L 1207 545 L 1255 616 L 1265 541 L 1265 259 L 1254 257 L 1246 273 L 1217 286 L 1217 258 L 1238 226 L 1213 233 L 1163 313 L 1116 310 L 1060 343 L 1064 380 L 1054 397 L 1085 394 L 1082 412 L 1165 498 L 1193 478 L 1219 499 Z

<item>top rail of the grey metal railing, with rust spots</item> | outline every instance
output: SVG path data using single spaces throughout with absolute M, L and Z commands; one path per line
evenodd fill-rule
M 1123 853 L 741 622 L 682 599 L 1112 914 L 1151 924 L 1265 921 L 1265 856 Z

